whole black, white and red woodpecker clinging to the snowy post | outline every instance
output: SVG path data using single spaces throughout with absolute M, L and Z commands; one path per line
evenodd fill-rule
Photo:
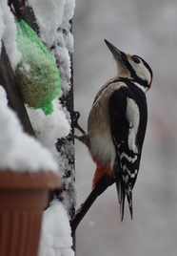
M 91 204 L 109 185 L 116 184 L 121 220 L 125 198 L 132 219 L 132 189 L 137 179 L 147 129 L 146 93 L 152 71 L 138 55 L 126 54 L 105 40 L 117 64 L 118 74 L 109 79 L 94 98 L 88 118 L 88 133 L 74 136 L 88 148 L 96 170 L 92 191 L 71 220 L 72 232 Z M 76 120 L 79 115 L 77 113 Z

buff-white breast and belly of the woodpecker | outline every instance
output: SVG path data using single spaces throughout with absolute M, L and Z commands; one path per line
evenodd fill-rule
M 110 164 L 112 167 L 116 158 L 116 151 L 110 131 L 108 100 L 112 92 L 121 86 L 123 83 L 116 83 L 100 90 L 90 110 L 88 120 L 91 155 L 94 159 L 104 164 Z

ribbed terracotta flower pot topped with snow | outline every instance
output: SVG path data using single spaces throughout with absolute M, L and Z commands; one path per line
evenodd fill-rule
M 0 255 L 36 256 L 49 189 L 61 188 L 51 172 L 0 171 Z

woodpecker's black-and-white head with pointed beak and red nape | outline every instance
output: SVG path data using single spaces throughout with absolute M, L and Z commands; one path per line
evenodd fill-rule
M 118 75 L 133 79 L 144 92 L 147 92 L 151 86 L 153 76 L 147 62 L 138 55 L 126 54 L 119 51 L 106 39 L 105 42 L 117 63 Z

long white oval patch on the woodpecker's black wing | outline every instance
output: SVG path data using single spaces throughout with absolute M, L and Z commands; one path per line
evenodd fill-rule
M 127 98 L 127 112 L 126 116 L 129 123 L 129 133 L 128 133 L 128 148 L 134 153 L 138 153 L 138 148 L 136 145 L 136 136 L 138 133 L 138 127 L 140 122 L 140 112 L 137 104 L 132 98 Z

